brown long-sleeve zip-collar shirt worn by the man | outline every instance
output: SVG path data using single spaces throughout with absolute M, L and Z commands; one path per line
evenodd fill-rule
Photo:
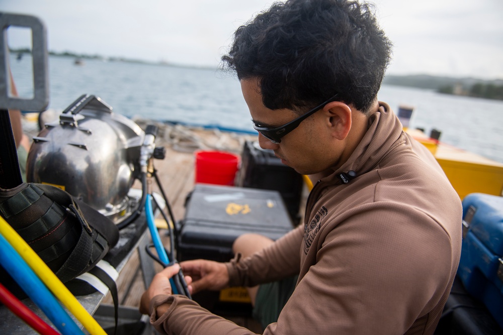
M 357 176 L 345 184 L 339 175 L 350 170 Z M 350 159 L 314 186 L 305 225 L 228 263 L 230 284 L 299 273 L 264 334 L 432 334 L 459 262 L 461 217 L 435 158 L 381 103 Z M 169 299 L 154 323 L 160 331 L 251 333 L 185 297 Z

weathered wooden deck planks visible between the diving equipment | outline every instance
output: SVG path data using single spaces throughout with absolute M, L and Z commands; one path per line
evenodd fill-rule
M 143 121 L 135 121 L 140 127 L 145 128 Z M 156 146 L 164 146 L 166 156 L 164 160 L 155 160 L 154 167 L 171 204 L 175 219 L 180 220 L 184 217 L 185 198 L 194 187 L 195 150 L 218 149 L 240 154 L 245 140 L 256 139 L 256 136 L 251 135 L 223 133 L 218 130 L 189 130 L 186 127 L 159 124 Z M 133 187 L 140 188 L 140 184 L 137 182 Z M 155 183 L 153 191 L 159 192 Z M 166 245 L 169 245 L 169 238 L 162 234 L 162 231 L 161 238 Z M 161 270 L 160 265 L 155 264 L 155 267 L 157 271 Z M 117 285 L 119 303 L 124 306 L 138 307 L 141 294 L 145 290 L 145 284 L 137 251 L 122 270 Z M 103 303 L 113 303 L 110 293 L 105 297 Z M 262 331 L 260 325 L 252 319 L 242 317 L 229 319 L 255 332 Z

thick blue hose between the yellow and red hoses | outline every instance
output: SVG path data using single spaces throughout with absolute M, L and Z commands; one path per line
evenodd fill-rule
M 2 266 L 63 335 L 83 335 L 82 330 L 2 235 L 0 254 Z

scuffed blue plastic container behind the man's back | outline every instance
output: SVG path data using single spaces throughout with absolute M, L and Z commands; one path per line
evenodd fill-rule
M 467 195 L 463 225 L 458 275 L 503 328 L 503 197 Z

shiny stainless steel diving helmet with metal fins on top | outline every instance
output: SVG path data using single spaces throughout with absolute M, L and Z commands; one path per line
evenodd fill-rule
M 145 133 L 94 95 L 82 95 L 33 138 L 27 181 L 56 185 L 120 221 L 139 174 Z

